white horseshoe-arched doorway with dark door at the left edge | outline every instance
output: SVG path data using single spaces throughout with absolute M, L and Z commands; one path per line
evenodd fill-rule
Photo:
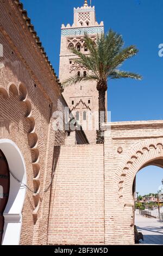
M 1 198 L 0 239 L 2 245 L 18 245 L 22 226 L 22 208 L 26 187 L 26 167 L 17 145 L 10 139 L 0 139 L 0 185 Z

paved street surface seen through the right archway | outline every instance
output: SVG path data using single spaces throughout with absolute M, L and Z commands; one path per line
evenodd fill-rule
M 141 232 L 144 237 L 144 245 L 163 245 L 163 223 L 156 218 L 142 217 L 135 213 L 135 225 L 137 231 Z

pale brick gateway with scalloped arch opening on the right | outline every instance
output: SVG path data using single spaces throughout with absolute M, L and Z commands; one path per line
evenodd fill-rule
M 163 168 L 163 121 L 108 123 L 104 130 L 105 244 L 134 244 L 134 180 L 143 167 Z

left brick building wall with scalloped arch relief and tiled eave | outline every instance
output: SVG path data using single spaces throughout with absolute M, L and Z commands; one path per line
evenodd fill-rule
M 1 1 L 0 12 L 0 138 L 18 145 L 27 185 L 36 192 L 26 194 L 21 244 L 46 244 L 50 188 L 43 191 L 51 182 L 54 146 L 65 143 L 65 131 L 52 128 L 52 114 L 60 111 L 63 119 L 67 103 L 22 4 Z

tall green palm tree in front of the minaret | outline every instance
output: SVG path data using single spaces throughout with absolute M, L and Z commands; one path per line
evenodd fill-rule
M 77 56 L 77 59 L 74 59 L 74 63 L 82 65 L 87 70 L 87 75 L 78 76 L 76 74 L 67 78 L 62 85 L 71 86 L 82 81 L 97 82 L 96 88 L 99 94 L 99 131 L 97 131 L 97 143 L 103 143 L 101 131 L 102 123 L 106 121 L 105 92 L 108 88 L 108 79 L 134 78 L 141 80 L 142 77 L 138 74 L 118 69 L 126 59 L 135 56 L 138 50 L 134 45 L 123 48 L 124 41 L 122 35 L 117 34 L 111 29 L 106 35 L 97 35 L 96 42 L 85 33 L 84 42 L 89 54 L 84 54 L 74 47 L 71 48 L 71 52 Z

